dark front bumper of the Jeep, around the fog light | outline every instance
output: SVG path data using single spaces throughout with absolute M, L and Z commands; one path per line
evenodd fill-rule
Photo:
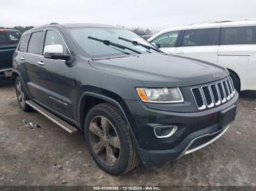
M 139 101 L 127 101 L 142 163 L 154 165 L 176 160 L 216 141 L 228 128 L 228 124 L 220 125 L 220 113 L 236 106 L 237 101 L 238 93 L 226 104 L 189 113 L 159 111 Z M 159 139 L 154 134 L 154 127 L 159 125 L 177 125 L 178 130 L 169 138 Z

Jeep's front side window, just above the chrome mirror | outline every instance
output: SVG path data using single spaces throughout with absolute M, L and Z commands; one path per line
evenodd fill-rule
M 62 39 L 61 34 L 59 34 L 58 31 L 53 31 L 53 30 L 47 31 L 45 36 L 44 48 L 48 45 L 56 45 L 56 44 L 62 45 L 64 55 L 69 55 L 69 50 L 64 42 L 64 39 Z

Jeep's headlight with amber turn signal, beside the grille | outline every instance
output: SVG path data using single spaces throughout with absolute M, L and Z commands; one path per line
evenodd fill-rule
M 184 101 L 181 90 L 174 88 L 136 88 L 140 99 L 151 103 L 180 103 Z

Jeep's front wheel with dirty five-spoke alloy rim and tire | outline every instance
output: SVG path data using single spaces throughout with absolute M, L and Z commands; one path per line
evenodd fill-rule
M 87 114 L 85 133 L 92 157 L 108 174 L 125 174 L 138 165 L 127 124 L 114 106 L 94 106 Z

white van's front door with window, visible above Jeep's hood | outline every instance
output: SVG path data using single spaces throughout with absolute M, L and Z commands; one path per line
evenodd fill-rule
M 164 34 L 160 34 L 151 41 L 159 47 L 160 50 L 167 54 L 174 54 L 176 50 L 176 44 L 181 31 L 170 31 Z

